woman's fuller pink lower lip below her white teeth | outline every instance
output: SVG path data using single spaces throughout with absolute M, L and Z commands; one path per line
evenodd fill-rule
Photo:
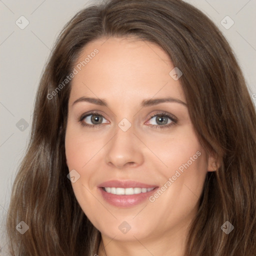
M 155 192 L 158 187 L 155 187 L 151 191 L 139 194 L 111 194 L 103 190 L 102 187 L 98 187 L 102 197 L 110 204 L 117 207 L 131 207 L 137 205 L 146 199 Z

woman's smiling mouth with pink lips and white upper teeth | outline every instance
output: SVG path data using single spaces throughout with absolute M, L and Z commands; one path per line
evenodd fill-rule
M 102 198 L 116 207 L 131 207 L 144 202 L 158 188 L 136 181 L 110 180 L 98 186 Z

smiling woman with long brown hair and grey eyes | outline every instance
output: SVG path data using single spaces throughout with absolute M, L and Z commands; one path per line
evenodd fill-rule
M 79 11 L 37 91 L 11 254 L 255 254 L 255 127 L 230 46 L 190 4 Z

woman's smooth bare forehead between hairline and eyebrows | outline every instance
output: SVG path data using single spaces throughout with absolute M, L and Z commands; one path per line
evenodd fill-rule
M 174 68 L 158 45 L 134 37 L 99 38 L 85 45 L 74 68 L 70 99 L 126 96 L 138 100 L 154 95 L 184 100 L 181 85 L 169 72 Z

